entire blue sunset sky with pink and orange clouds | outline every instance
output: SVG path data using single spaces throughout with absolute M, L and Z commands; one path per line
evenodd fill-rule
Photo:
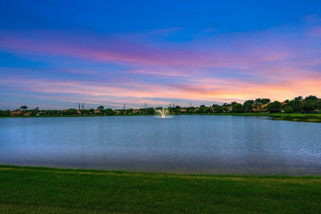
M 0 109 L 321 97 L 320 1 L 0 1 Z

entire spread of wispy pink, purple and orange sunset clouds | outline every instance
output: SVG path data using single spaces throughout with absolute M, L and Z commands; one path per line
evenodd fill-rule
M 66 102 L 142 103 L 175 100 L 226 102 L 270 97 L 282 101 L 309 94 L 321 96 L 321 22 L 303 19 L 260 31 L 220 34 L 175 43 L 153 42 L 153 34 L 69 34 L 53 31 L 0 31 L 0 51 L 20 58 L 60 57 L 77 66 L 0 67 L 0 92 Z M 294 27 L 293 27 L 294 26 Z M 212 31 L 212 28 L 204 31 Z M 115 64 L 122 69 L 106 67 Z M 95 70 L 99 65 L 102 70 Z M 43 73 L 29 76 L 26 74 Z M 38 74 L 37 73 L 37 74 Z M 46 78 L 46 75 L 51 75 Z M 84 79 L 83 76 L 86 75 Z M 17 95 L 18 96 L 18 95 Z

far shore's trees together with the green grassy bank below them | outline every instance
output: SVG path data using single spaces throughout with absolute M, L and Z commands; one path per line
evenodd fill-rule
M 40 110 L 38 107 L 29 109 L 23 105 L 16 110 L 0 110 L 0 117 L 38 117 L 38 116 L 111 116 L 111 115 L 153 115 L 157 108 L 140 109 L 111 109 L 98 106 L 96 109 L 84 109 L 83 105 L 79 109 L 64 110 Z M 268 98 L 257 98 L 255 100 L 246 100 L 243 104 L 238 102 L 224 103 L 223 105 L 213 104 L 212 106 L 201 105 L 199 107 L 189 106 L 181 107 L 171 105 L 167 108 L 169 114 L 216 114 L 216 115 L 247 115 L 247 116 L 271 116 L 274 119 L 303 120 L 311 122 L 321 121 L 321 99 L 316 96 L 307 96 L 305 98 L 298 96 L 292 100 L 283 102 L 271 102 Z

